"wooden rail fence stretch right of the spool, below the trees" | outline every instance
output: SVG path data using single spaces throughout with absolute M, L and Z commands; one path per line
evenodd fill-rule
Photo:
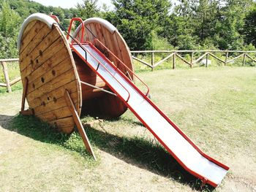
M 154 70 L 155 67 L 159 66 L 159 64 L 162 64 L 164 61 L 166 61 L 169 58 L 173 59 L 172 67 L 173 69 L 176 68 L 176 58 L 181 59 L 181 61 L 184 62 L 184 64 L 187 64 L 190 66 L 190 68 L 193 67 L 194 64 L 197 64 L 199 61 L 201 61 L 203 58 L 206 58 L 206 67 L 208 66 L 209 56 L 217 59 L 218 61 L 222 62 L 225 66 L 228 63 L 231 63 L 233 61 L 236 61 L 236 59 L 243 57 L 243 66 L 246 64 L 246 58 L 249 58 L 253 62 L 256 62 L 255 58 L 252 58 L 252 56 L 249 55 L 249 53 L 256 53 L 256 51 L 242 51 L 242 50 L 133 50 L 131 51 L 132 58 L 135 61 L 139 61 L 141 64 L 144 64 Z M 135 57 L 135 54 L 140 53 L 147 53 L 151 54 L 151 63 L 148 64 L 148 62 L 143 61 L 140 58 Z M 162 60 L 157 61 L 157 63 L 154 62 L 155 54 L 156 53 L 168 53 L 168 55 L 165 58 L 162 58 Z M 186 58 L 182 56 L 182 54 L 190 54 L 190 61 L 187 61 Z M 199 57 L 195 58 L 195 53 L 201 54 Z M 214 55 L 214 53 L 222 53 L 225 54 L 225 60 L 222 58 L 219 58 L 217 55 Z M 230 57 L 230 53 L 238 53 L 239 55 L 236 57 Z

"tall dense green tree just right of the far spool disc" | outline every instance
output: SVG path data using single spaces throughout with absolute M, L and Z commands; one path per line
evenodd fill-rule
M 170 1 L 114 0 L 115 17 L 112 23 L 133 50 L 152 49 L 153 31 L 160 31 L 167 18 Z

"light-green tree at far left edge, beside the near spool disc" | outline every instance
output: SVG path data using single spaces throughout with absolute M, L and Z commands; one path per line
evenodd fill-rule
M 3 1 L 0 9 L 0 58 L 18 57 L 17 39 L 20 16 Z

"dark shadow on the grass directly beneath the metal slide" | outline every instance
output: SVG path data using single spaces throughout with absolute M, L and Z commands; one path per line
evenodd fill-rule
M 160 174 L 178 183 L 184 183 L 191 188 L 200 191 L 213 191 L 211 185 L 201 188 L 201 181 L 189 174 L 167 151 L 154 142 L 141 137 L 118 137 L 106 131 L 99 131 L 95 128 L 86 128 L 93 145 L 99 147 L 116 158 L 147 169 L 150 172 Z

